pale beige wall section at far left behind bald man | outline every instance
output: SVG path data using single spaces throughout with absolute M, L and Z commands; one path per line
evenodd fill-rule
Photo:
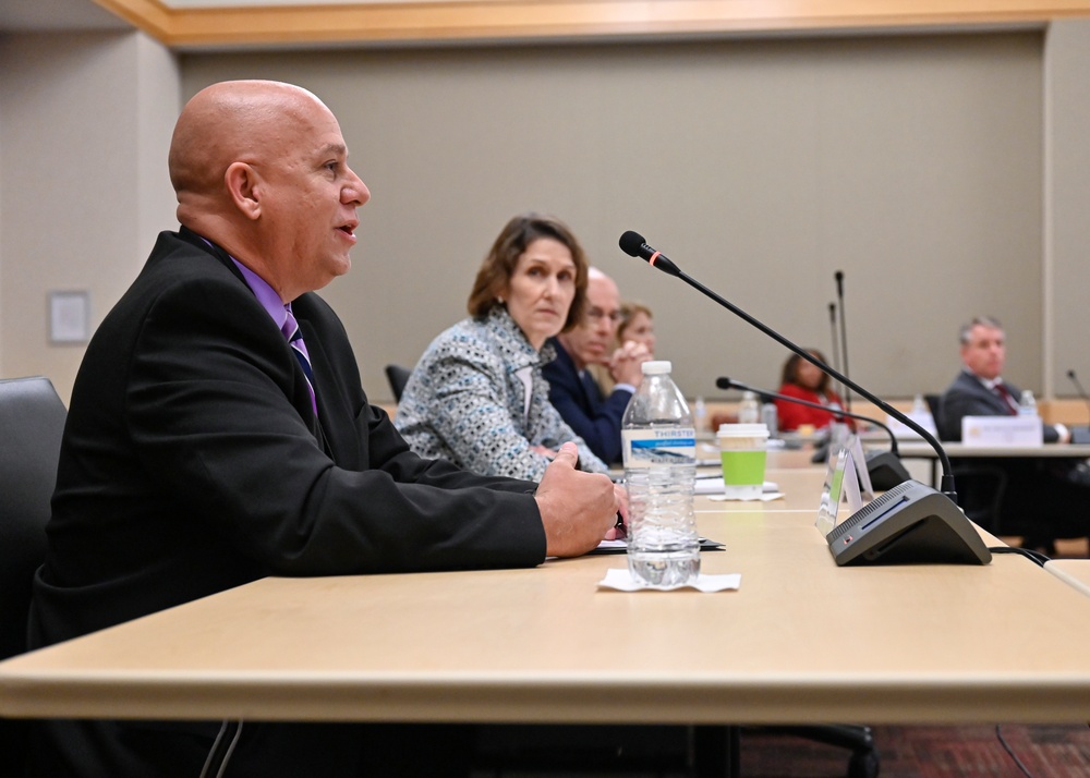
M 50 291 L 87 291 L 92 326 L 173 223 L 173 58 L 133 33 L 0 38 L 0 375 L 68 399 L 82 345 L 53 345 Z

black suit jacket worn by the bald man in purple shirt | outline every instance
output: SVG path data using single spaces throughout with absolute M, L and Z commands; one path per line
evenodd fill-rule
M 184 229 L 159 235 L 75 380 L 32 647 L 266 575 L 543 561 L 535 485 L 410 452 L 367 403 L 329 306 L 304 294 L 292 308 L 317 418 L 283 335 L 230 257 Z M 217 729 L 51 722 L 36 775 L 168 775 L 192 764 L 196 775 Z M 168 741 L 160 730 L 184 734 Z M 290 774 L 276 764 L 283 751 L 255 743 L 290 750 L 292 737 L 244 732 L 269 763 L 255 774 Z M 178 744 L 184 755 L 171 752 Z

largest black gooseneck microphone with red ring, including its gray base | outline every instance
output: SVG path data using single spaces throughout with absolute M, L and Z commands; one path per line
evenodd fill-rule
M 647 245 L 638 232 L 629 230 L 620 236 L 619 243 L 626 254 L 645 259 L 664 272 L 680 278 L 786 349 L 850 387 L 901 424 L 916 430 L 935 450 L 943 467 L 942 493 L 918 481 L 906 481 L 863 506 L 843 523 L 837 524 L 825 538 L 837 564 L 880 562 L 986 564 L 992 560 L 992 555 L 980 539 L 980 535 L 957 507 L 950 460 L 934 435 L 889 403 L 834 370 L 802 347 L 682 272 L 662 252 Z

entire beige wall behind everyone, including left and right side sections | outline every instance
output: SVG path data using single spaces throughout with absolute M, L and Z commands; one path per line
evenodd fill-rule
M 162 160 L 180 72 L 183 97 L 277 77 L 340 117 L 374 199 L 353 271 L 323 294 L 375 400 L 389 398 L 384 364 L 413 363 L 464 315 L 496 231 L 529 208 L 568 220 L 655 309 L 689 394 L 720 397 L 718 375 L 774 385 L 785 351 L 623 256 L 626 229 L 826 350 L 844 270 L 851 375 L 880 393 L 941 390 L 957 325 L 983 312 L 1010 330 L 1010 378 L 1041 391 L 1080 367 L 1050 328 L 1090 319 L 1071 288 L 1086 273 L 1088 44 L 1073 22 L 1047 36 L 187 54 L 177 71 L 159 50 L 152 75 L 138 36 L 66 45 L 63 74 L 40 41 L 0 40 L 0 374 L 47 373 L 64 394 L 82 350 L 45 341 L 46 292 L 92 289 L 97 321 L 173 224 Z M 74 75 L 84 60 L 94 72 Z

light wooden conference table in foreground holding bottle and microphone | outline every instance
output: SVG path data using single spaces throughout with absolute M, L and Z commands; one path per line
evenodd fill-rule
M 735 592 L 600 589 L 622 556 L 265 579 L 0 664 L 0 715 L 1090 720 L 1090 597 L 1009 555 L 837 568 L 813 526 L 822 471 L 776 463 L 783 500 L 699 499 L 726 544 L 703 570 L 741 573 Z

